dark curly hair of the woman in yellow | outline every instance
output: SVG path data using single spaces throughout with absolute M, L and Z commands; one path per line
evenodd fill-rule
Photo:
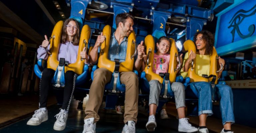
M 208 55 L 208 54 L 212 55 L 212 50 L 213 50 L 214 41 L 215 41 L 214 35 L 211 32 L 205 31 L 205 30 L 195 33 L 195 35 L 194 35 L 195 45 L 196 45 L 196 37 L 197 37 L 198 34 L 203 34 L 202 39 L 206 44 L 205 54 L 206 55 Z

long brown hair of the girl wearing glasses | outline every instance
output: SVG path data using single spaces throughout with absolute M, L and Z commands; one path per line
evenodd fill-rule
M 76 30 L 76 34 L 74 35 L 73 40 L 71 40 L 71 41 L 72 41 L 73 45 L 79 45 L 79 38 L 80 38 L 79 37 L 80 36 L 79 33 L 80 33 L 80 31 L 79 31 L 79 25 L 78 25 L 78 23 L 77 23 L 77 21 L 75 19 L 66 19 L 65 20 L 65 22 L 63 24 L 63 28 L 62 28 L 61 43 L 66 43 L 67 42 L 68 34 L 67 34 L 67 27 L 66 27 L 66 25 L 68 25 L 68 23 L 70 21 L 74 21 L 76 23 L 76 27 L 78 28 Z

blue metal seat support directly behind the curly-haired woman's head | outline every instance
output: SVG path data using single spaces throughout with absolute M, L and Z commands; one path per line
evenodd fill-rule
M 201 31 L 203 29 L 204 22 L 206 20 L 188 18 L 189 22 L 187 22 L 187 35 L 186 40 L 191 39 L 193 40 L 193 36 L 197 31 Z

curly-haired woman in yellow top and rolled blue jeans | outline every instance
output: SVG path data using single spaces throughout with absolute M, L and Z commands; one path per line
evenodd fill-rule
M 210 55 L 213 51 L 214 36 L 208 31 L 197 32 L 194 36 L 194 42 L 196 44 L 197 52 L 188 56 L 185 54 L 183 69 L 181 75 L 187 77 L 187 71 L 189 69 L 190 62 L 195 59 L 195 72 L 198 75 L 206 74 L 210 75 Z M 224 66 L 224 59 L 219 57 L 219 65 Z M 218 73 L 218 78 L 221 76 L 221 72 Z M 199 115 L 199 133 L 208 133 L 206 128 L 206 117 L 212 114 L 212 98 L 211 98 L 211 85 L 208 82 L 194 82 L 196 89 L 198 90 L 198 115 Z M 220 107 L 222 115 L 222 124 L 224 128 L 221 133 L 233 133 L 231 131 L 231 124 L 235 122 L 233 113 L 233 94 L 228 85 L 215 85 L 218 96 L 220 98 Z

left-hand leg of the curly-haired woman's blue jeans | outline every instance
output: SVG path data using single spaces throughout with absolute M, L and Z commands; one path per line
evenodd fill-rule
M 211 85 L 208 82 L 193 82 L 198 91 L 198 115 L 212 115 Z

